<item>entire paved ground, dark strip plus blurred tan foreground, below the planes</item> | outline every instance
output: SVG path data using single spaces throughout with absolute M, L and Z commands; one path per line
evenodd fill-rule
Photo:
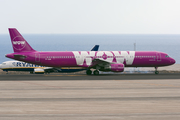
M 179 74 L 0 75 L 0 119 L 177 120 Z

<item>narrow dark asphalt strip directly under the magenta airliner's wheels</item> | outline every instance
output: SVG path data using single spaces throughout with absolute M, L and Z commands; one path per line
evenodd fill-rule
M 180 79 L 179 73 L 165 74 L 6 74 L 0 80 L 145 80 L 145 79 Z

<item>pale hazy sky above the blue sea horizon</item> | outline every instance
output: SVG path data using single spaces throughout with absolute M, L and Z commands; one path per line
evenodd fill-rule
M 180 0 L 0 0 L 0 34 L 180 34 Z

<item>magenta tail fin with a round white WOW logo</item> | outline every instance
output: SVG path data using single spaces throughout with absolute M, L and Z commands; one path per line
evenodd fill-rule
M 16 28 L 9 28 L 11 42 L 14 52 L 30 52 L 35 51 Z

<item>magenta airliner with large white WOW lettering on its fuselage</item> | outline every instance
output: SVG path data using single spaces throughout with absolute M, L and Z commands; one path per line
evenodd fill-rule
M 39 52 L 34 50 L 15 28 L 9 28 L 14 53 L 6 57 L 48 67 L 83 67 L 86 74 L 99 71 L 123 72 L 124 67 L 168 66 L 175 60 L 166 53 L 157 51 L 56 51 Z

